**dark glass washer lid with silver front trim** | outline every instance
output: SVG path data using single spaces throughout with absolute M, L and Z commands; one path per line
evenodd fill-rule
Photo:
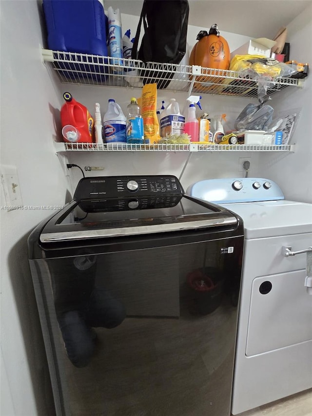
M 41 242 L 132 236 L 236 225 L 215 204 L 182 195 L 72 201 L 48 221 Z

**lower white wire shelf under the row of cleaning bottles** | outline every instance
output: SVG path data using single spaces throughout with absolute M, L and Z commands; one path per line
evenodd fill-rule
M 74 151 L 98 152 L 293 152 L 294 145 L 260 144 L 128 144 L 128 143 L 63 143 L 55 142 L 57 153 Z

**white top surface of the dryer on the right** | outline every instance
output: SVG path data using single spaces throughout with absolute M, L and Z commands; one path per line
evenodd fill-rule
M 243 218 L 247 239 L 312 232 L 312 204 L 282 199 L 222 206 Z

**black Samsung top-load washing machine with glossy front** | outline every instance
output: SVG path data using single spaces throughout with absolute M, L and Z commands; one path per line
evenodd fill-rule
M 57 415 L 230 415 L 243 244 L 175 176 L 81 179 L 28 239 Z

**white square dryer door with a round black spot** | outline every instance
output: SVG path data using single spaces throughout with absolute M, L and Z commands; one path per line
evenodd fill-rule
M 254 279 L 246 356 L 312 339 L 312 297 L 305 278 L 305 270 L 296 270 Z

